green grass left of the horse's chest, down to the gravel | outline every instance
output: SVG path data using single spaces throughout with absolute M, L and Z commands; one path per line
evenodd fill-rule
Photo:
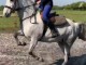
M 0 17 L 0 31 L 15 31 L 19 27 L 18 17 Z

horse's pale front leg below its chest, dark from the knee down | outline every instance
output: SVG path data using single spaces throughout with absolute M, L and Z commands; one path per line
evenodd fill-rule
M 39 61 L 43 61 L 41 57 L 37 56 L 32 51 L 34 50 L 35 46 L 38 43 L 38 38 L 37 37 L 31 37 L 31 41 L 30 41 L 30 46 L 29 46 L 29 54 L 39 60 Z

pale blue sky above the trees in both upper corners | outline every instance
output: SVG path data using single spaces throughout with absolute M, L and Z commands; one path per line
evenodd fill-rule
M 54 1 L 54 5 L 67 5 L 73 2 L 78 2 L 78 1 L 85 1 L 86 0 L 53 0 Z M 5 4 L 5 0 L 0 0 L 0 5 L 4 5 Z

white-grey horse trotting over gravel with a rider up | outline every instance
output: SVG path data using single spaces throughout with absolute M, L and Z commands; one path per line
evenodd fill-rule
M 38 44 L 39 38 L 42 37 L 44 24 L 41 18 L 40 12 L 35 11 L 34 0 L 6 0 L 3 15 L 5 17 L 10 17 L 11 13 L 13 13 L 14 11 L 17 11 L 22 29 L 14 35 L 17 44 L 20 44 L 17 36 L 23 35 L 27 39 L 30 38 L 31 40 L 28 52 L 33 57 L 40 60 L 40 57 L 37 56 L 32 51 Z M 70 57 L 70 49 L 75 39 L 78 37 L 82 40 L 86 40 L 86 24 L 73 23 L 73 21 L 66 18 L 64 25 L 55 26 L 59 32 L 59 37 L 56 37 L 55 41 L 58 42 L 59 47 L 64 53 L 64 61 L 62 65 L 67 65 Z M 48 34 L 51 34 L 51 31 Z

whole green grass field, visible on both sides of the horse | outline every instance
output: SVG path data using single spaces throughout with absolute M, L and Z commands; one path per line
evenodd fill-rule
M 67 11 L 67 10 L 57 10 L 56 11 L 60 15 L 64 15 L 68 18 L 74 20 L 75 22 L 84 22 L 86 23 L 86 11 Z M 0 11 L 0 15 L 2 15 L 2 11 Z M 12 14 L 16 15 L 16 14 Z M 18 17 L 0 17 L 0 30 L 15 30 L 19 27 Z

